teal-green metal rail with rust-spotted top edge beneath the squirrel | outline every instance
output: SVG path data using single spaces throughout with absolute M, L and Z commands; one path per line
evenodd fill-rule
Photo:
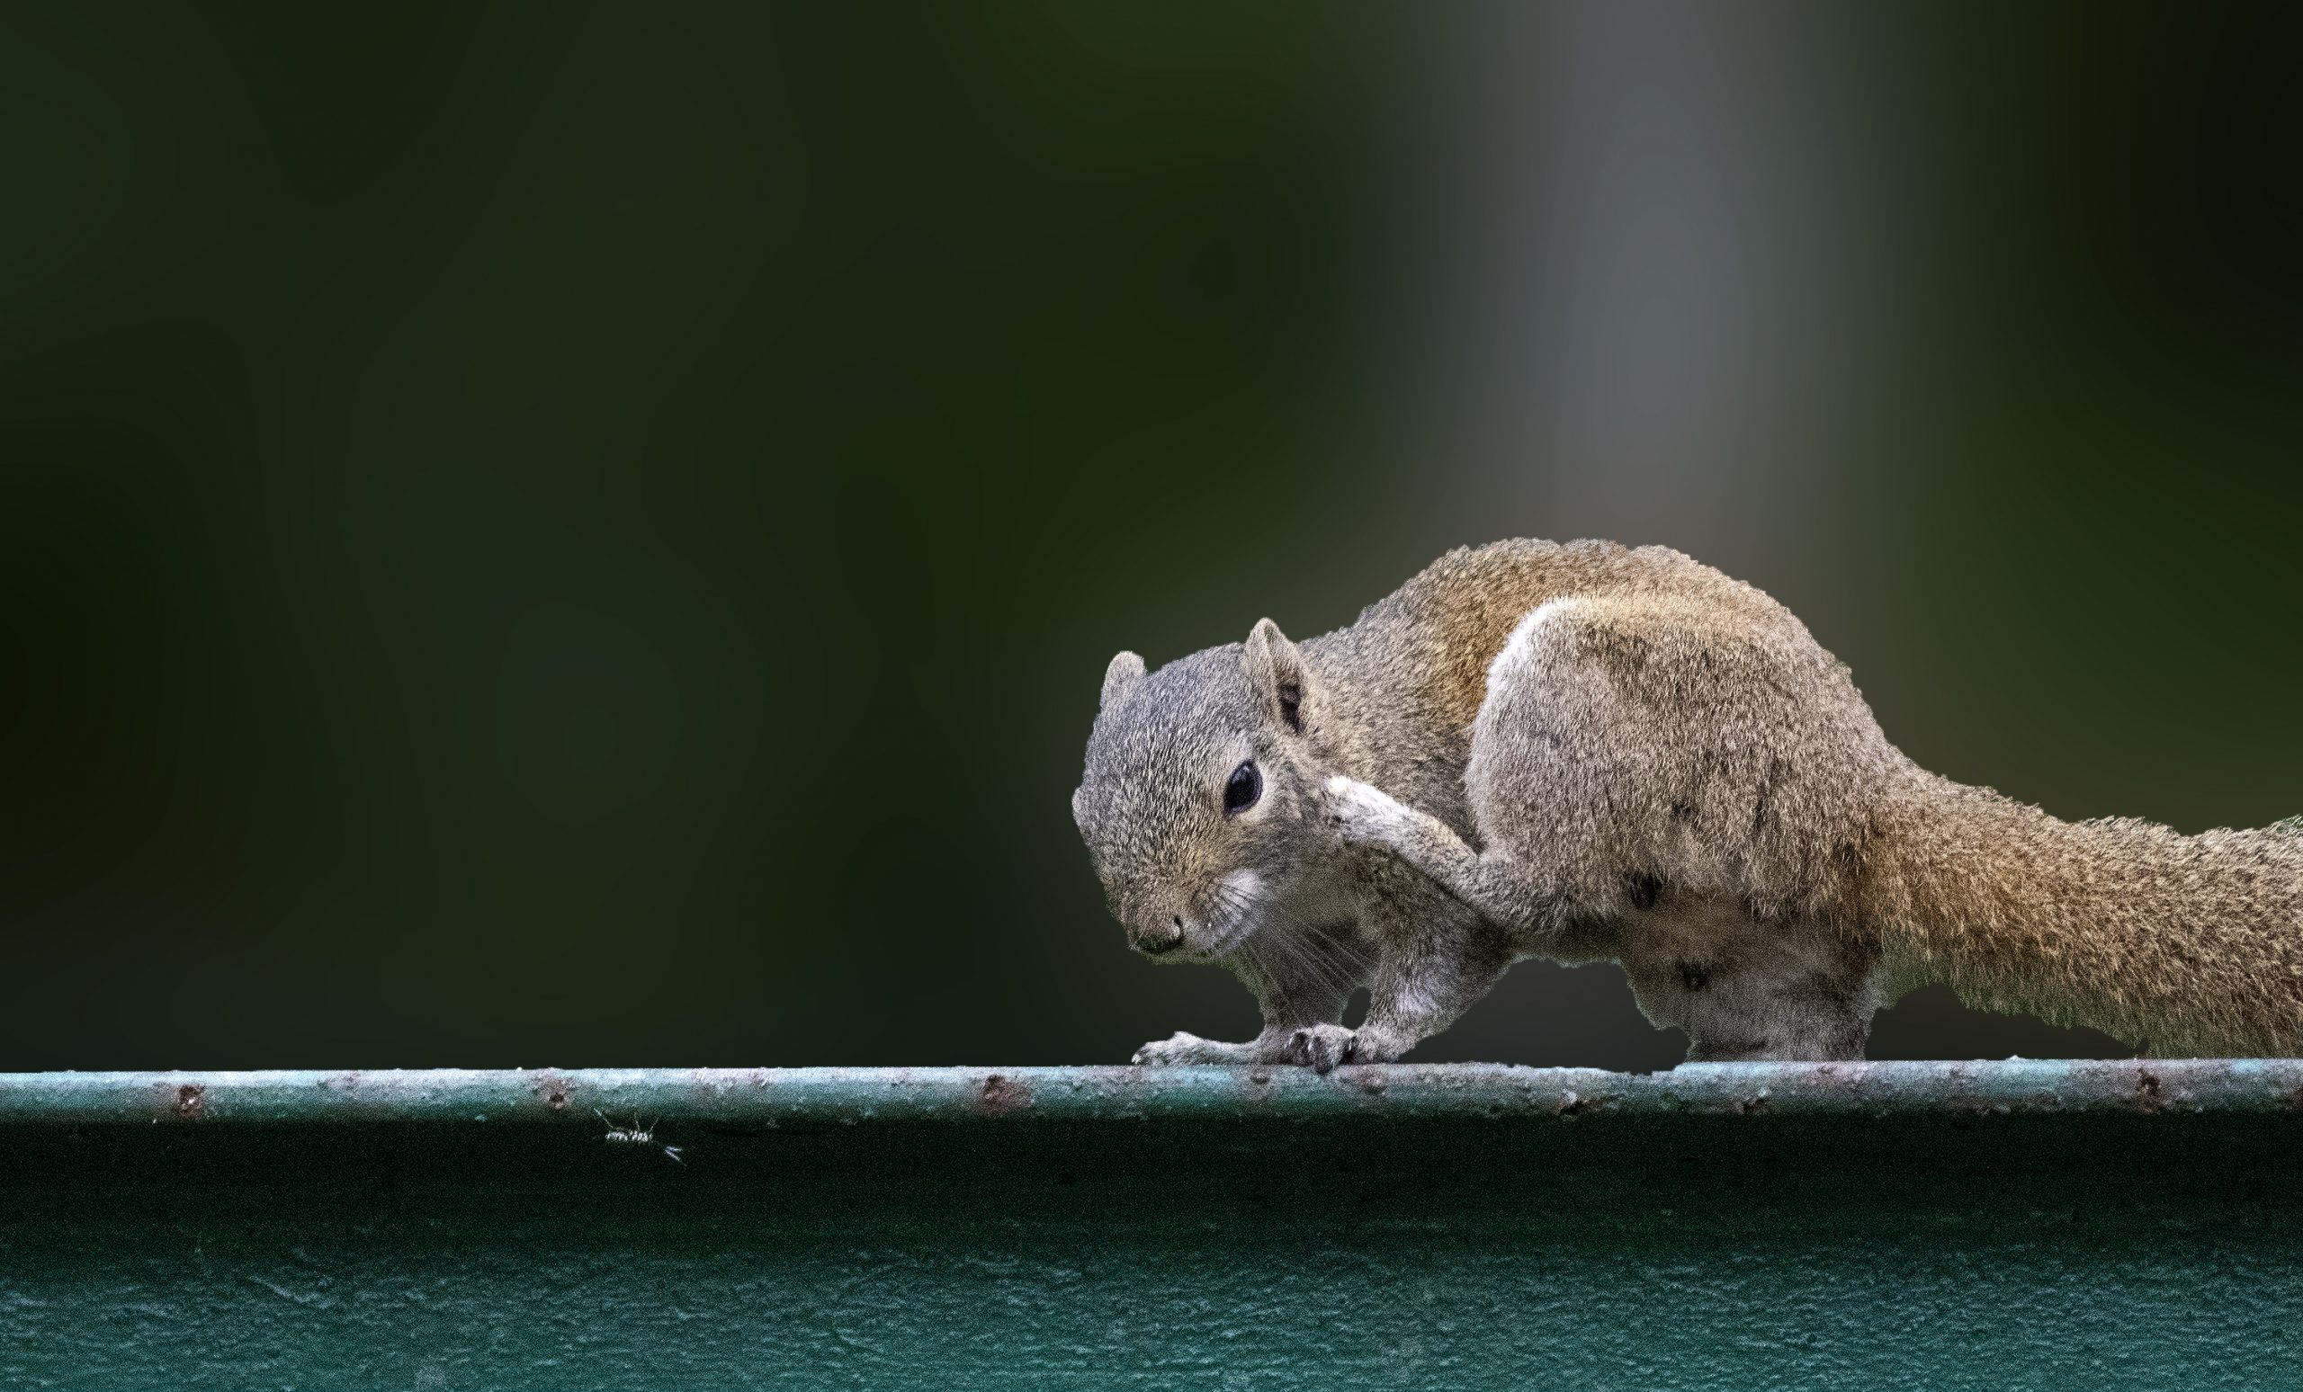
M 2294 1061 L 0 1074 L 0 1387 L 2275 1387 L 2298 1155 Z

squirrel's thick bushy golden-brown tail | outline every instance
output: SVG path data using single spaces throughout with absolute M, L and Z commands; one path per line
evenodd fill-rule
M 1879 833 L 1859 913 L 1969 1005 L 2158 1056 L 2303 1051 L 2303 821 L 2059 821 L 1928 775 Z

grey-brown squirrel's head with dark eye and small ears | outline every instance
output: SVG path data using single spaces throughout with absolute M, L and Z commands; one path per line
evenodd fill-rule
M 1303 653 L 1271 619 L 1158 672 L 1112 658 L 1071 819 L 1138 953 L 1227 957 L 1322 856 L 1320 718 Z

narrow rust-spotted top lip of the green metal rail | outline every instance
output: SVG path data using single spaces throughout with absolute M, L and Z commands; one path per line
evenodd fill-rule
M 594 1109 L 712 1123 L 1274 1116 L 1898 1116 L 2303 1111 L 2296 1058 L 1686 1063 L 1670 1072 L 1343 1068 L 590 1068 L 0 1074 L 0 1125 L 553 1123 Z

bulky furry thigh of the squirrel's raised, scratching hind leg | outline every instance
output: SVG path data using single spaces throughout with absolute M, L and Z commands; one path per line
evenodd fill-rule
M 1902 757 L 1845 667 L 1739 587 L 1534 607 L 1488 665 L 1465 796 L 1481 844 L 1575 913 L 1663 890 L 1845 913 Z

